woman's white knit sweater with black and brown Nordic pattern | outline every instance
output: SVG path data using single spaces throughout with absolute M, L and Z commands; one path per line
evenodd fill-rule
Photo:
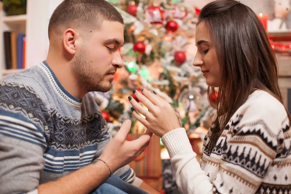
M 210 133 L 210 132 L 209 132 Z M 200 163 L 184 128 L 162 137 L 182 194 L 291 193 L 290 125 L 284 106 L 257 90 L 234 113 Z

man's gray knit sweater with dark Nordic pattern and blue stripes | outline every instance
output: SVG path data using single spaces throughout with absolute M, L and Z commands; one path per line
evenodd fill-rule
M 45 61 L 0 82 L 0 194 L 37 193 L 97 159 L 110 138 L 94 98 L 70 95 Z M 135 179 L 128 165 L 115 174 Z

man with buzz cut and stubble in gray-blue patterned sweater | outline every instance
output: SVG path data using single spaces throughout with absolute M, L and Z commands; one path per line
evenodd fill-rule
M 106 122 L 88 94 L 111 89 L 123 66 L 123 42 L 123 19 L 105 0 L 64 0 L 56 8 L 46 61 L 0 82 L 1 194 L 87 194 L 113 172 L 111 185 L 122 178 L 156 193 L 126 165 L 151 134 L 127 142 L 126 121 L 109 142 Z M 110 184 L 99 188 L 116 192 L 106 189 Z

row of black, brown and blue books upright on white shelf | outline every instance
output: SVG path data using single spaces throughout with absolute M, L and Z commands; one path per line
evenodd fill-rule
M 26 39 L 24 33 L 4 32 L 6 69 L 25 68 Z

